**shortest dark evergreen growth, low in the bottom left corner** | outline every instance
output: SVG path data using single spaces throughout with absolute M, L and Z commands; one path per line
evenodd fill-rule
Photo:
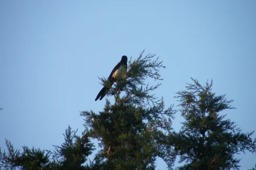
M 23 152 L 15 150 L 10 141 L 6 140 L 8 152 L 1 152 L 0 168 L 6 169 L 90 169 L 84 165 L 87 156 L 91 154 L 92 143 L 88 134 L 83 132 L 82 138 L 76 135 L 76 131 L 68 126 L 65 130 L 64 143 L 61 146 L 54 145 L 55 150 L 45 151 L 29 149 L 24 146 Z

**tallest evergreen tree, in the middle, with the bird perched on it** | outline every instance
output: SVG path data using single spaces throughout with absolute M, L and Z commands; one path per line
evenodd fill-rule
M 92 138 L 98 139 L 101 150 L 90 166 L 101 169 L 155 169 L 156 156 L 160 156 L 157 136 L 171 129 L 174 111 L 165 110 L 162 99 L 152 91 L 160 83 L 150 86 L 147 78 L 162 80 L 159 69 L 165 68 L 155 55 L 143 53 L 129 62 L 125 77 L 119 79 L 108 92 L 114 103 L 106 100 L 99 114 L 82 112 L 85 126 Z M 108 86 L 107 79 L 101 79 Z

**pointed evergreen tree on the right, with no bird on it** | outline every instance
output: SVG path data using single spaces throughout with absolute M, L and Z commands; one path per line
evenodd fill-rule
M 185 121 L 179 132 L 169 134 L 166 148 L 174 150 L 165 159 L 179 155 L 185 164 L 178 169 L 239 169 L 240 160 L 235 154 L 256 151 L 256 139 L 250 138 L 254 131 L 242 133 L 234 122 L 225 119 L 226 115 L 220 114 L 234 107 L 225 95 L 212 92 L 212 82 L 201 86 L 192 80 L 186 91 L 177 93 Z

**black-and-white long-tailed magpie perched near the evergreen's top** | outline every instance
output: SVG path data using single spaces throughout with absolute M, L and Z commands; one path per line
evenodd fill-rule
M 109 89 L 112 87 L 113 83 L 117 81 L 117 79 L 120 79 L 126 74 L 127 71 L 127 57 L 124 55 L 122 56 L 121 61 L 114 67 L 111 74 L 109 75 L 108 80 L 110 81 L 110 87 L 104 86 L 99 94 L 97 95 L 95 101 L 97 101 L 99 98 L 102 100 L 104 96 L 108 93 Z

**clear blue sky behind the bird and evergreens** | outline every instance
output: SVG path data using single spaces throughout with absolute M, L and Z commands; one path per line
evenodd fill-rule
M 0 1 L 0 25 L 2 149 L 6 138 L 16 149 L 53 150 L 68 125 L 80 135 L 79 112 L 104 107 L 94 101 L 98 77 L 144 49 L 166 65 L 156 91 L 166 106 L 179 104 L 173 96 L 190 77 L 213 79 L 217 95 L 234 99 L 236 110 L 223 114 L 243 132 L 256 129 L 256 1 L 9 0 Z M 182 121 L 178 112 L 173 128 Z M 256 164 L 255 154 L 238 157 L 241 169 Z

